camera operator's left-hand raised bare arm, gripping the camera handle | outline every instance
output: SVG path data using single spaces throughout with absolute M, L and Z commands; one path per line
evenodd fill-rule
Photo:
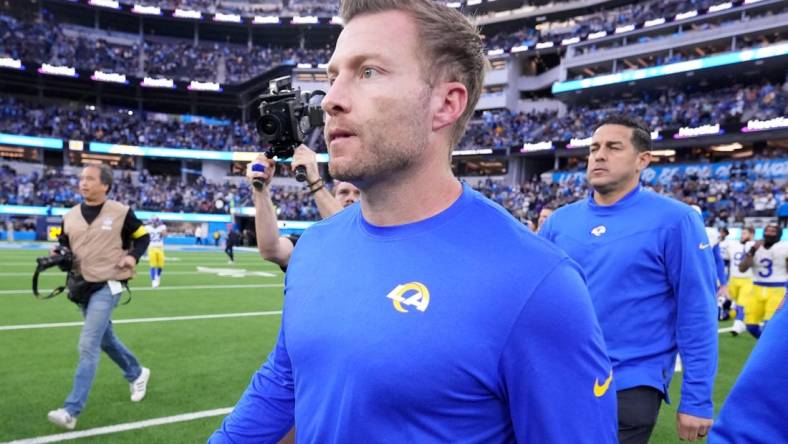
M 265 171 L 252 171 L 253 164 L 265 166 Z M 287 268 L 290 262 L 290 253 L 293 251 L 293 242 L 286 237 L 279 236 L 279 227 L 276 223 L 276 213 L 274 203 L 271 201 L 269 184 L 274 175 L 274 161 L 264 155 L 260 155 L 254 162 L 249 163 L 246 169 L 246 177 L 249 181 L 254 178 L 261 178 L 265 184 L 258 190 L 252 187 L 254 198 L 255 218 L 254 229 L 257 234 L 257 249 L 260 256 L 267 261 L 271 261 L 280 267 Z

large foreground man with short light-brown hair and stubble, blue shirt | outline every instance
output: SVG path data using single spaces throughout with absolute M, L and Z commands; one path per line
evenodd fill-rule
M 293 250 L 276 346 L 211 443 L 614 443 L 579 267 L 459 182 L 484 43 L 432 0 L 344 1 L 329 172 L 359 203 Z

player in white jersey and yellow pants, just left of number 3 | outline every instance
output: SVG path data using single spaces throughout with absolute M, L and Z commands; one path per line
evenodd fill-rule
M 739 271 L 739 265 L 747 252 L 755 245 L 754 237 L 755 230 L 752 227 L 744 227 L 739 240 L 726 239 L 720 243 L 720 254 L 728 262 L 729 267 L 728 298 L 733 302 L 732 308 L 736 310 L 733 331 L 731 331 L 734 335 L 744 333 L 746 330 L 743 303 L 753 291 L 752 270 Z

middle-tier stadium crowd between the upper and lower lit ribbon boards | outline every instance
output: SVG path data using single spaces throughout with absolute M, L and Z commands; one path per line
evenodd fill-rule
M 588 137 L 594 122 L 613 113 L 637 116 L 655 129 L 771 119 L 788 115 L 788 83 L 734 86 L 710 92 L 685 92 L 672 88 L 593 107 L 569 107 L 561 116 L 555 111 L 484 111 L 471 121 L 459 146 L 501 148 L 524 142 Z M 121 109 L 85 109 L 0 98 L 0 132 L 5 133 L 170 148 L 259 149 L 251 123 L 229 121 L 229 124 L 219 125 L 183 122 L 177 116 L 162 119 L 160 116 Z M 315 148 L 324 150 L 322 137 Z

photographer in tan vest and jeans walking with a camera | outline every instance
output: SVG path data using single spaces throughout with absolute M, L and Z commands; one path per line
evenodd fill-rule
M 69 299 L 79 305 L 85 323 L 79 336 L 79 363 L 71 393 L 63 408 L 49 412 L 49 420 L 73 429 L 87 401 L 101 350 L 123 370 L 129 381 L 131 401 L 145 397 L 150 370 L 115 336 L 112 311 L 118 304 L 123 284 L 131 279 L 140 256 L 150 243 L 142 222 L 129 207 L 108 200 L 112 170 L 107 165 L 90 165 L 79 176 L 80 205 L 63 216 L 60 245 L 75 256 L 70 277 Z

